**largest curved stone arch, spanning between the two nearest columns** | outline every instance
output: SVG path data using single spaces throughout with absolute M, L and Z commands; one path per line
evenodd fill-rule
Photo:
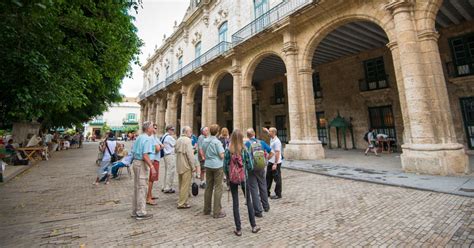
M 391 18 L 389 17 L 388 12 L 385 15 L 385 19 Z M 384 30 L 387 38 L 390 42 L 396 41 L 396 36 L 394 34 L 394 24 L 393 21 L 390 20 L 383 20 L 376 17 L 376 15 L 369 15 L 369 14 L 350 14 L 344 15 L 340 17 L 335 17 L 326 23 L 322 24 L 321 27 L 317 29 L 317 31 L 307 40 L 307 42 L 303 42 L 303 44 L 308 44 L 302 51 L 302 57 L 300 59 L 301 68 L 311 68 L 311 61 L 314 52 L 318 48 L 319 44 L 321 43 L 324 38 L 330 34 L 332 31 L 336 30 L 339 27 L 344 26 L 345 24 L 357 21 L 367 21 L 377 24 L 382 30 Z

